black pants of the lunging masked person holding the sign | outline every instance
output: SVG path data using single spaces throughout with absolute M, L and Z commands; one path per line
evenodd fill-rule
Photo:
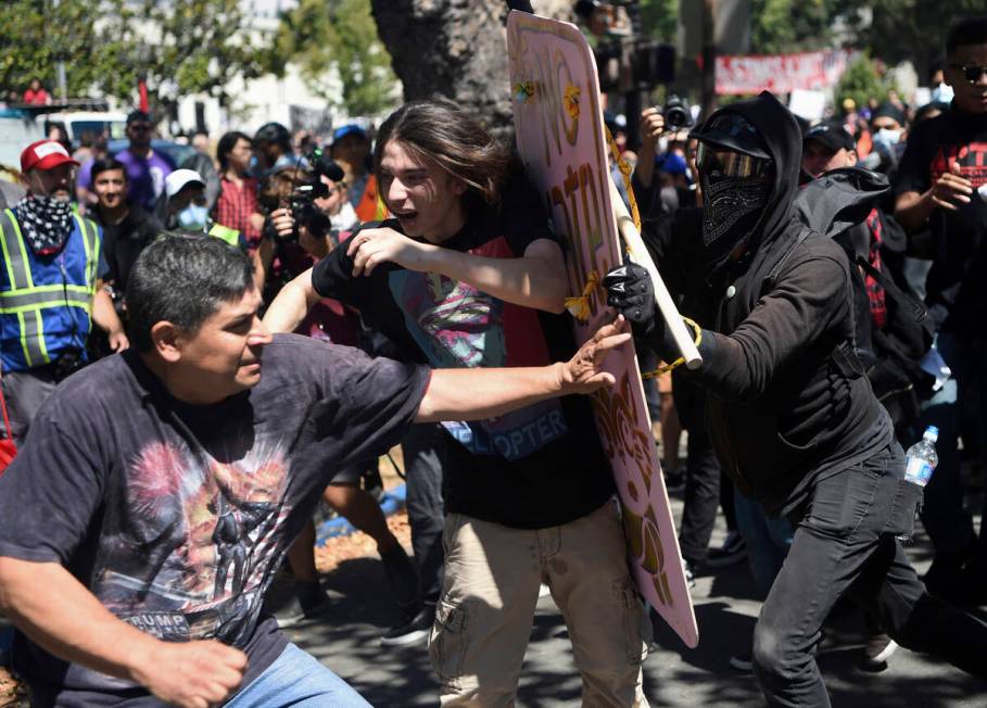
M 896 534 L 914 518 L 915 489 L 901 480 L 893 443 L 817 483 L 755 629 L 754 659 L 771 706 L 830 706 L 815 665 L 820 628 L 850 595 L 901 646 L 987 677 L 987 624 L 929 596 Z

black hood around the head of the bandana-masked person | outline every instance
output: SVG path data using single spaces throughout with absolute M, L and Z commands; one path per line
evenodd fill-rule
M 774 161 L 774 184 L 768 203 L 757 225 L 744 239 L 744 252 L 750 253 L 771 242 L 784 232 L 793 219 L 792 201 L 798 191 L 798 174 L 802 161 L 802 134 L 798 122 L 774 96 L 762 91 L 760 96 L 737 101 L 713 112 L 707 123 L 724 113 L 739 114 L 763 138 L 771 160 Z M 713 271 L 726 265 L 726 256 L 710 264 Z

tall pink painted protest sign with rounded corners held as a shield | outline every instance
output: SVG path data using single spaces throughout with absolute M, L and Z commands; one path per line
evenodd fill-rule
M 507 18 L 507 52 L 518 151 L 569 242 L 571 292 L 590 294 L 590 317 L 577 325 L 584 341 L 613 318 L 603 288 L 592 283 L 622 261 L 596 62 L 573 25 L 521 12 Z M 620 492 L 632 573 L 645 599 L 694 647 L 699 632 L 637 358 L 628 347 L 607 364 L 617 385 L 595 394 L 593 406 Z

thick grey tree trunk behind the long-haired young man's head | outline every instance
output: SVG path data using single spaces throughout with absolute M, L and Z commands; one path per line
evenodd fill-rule
M 496 0 L 371 0 L 406 101 L 438 96 L 509 131 L 507 3 Z

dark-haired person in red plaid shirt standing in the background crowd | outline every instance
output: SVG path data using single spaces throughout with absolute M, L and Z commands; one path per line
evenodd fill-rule
M 213 210 L 213 220 L 240 231 L 253 251 L 261 242 L 264 216 L 257 210 L 257 180 L 248 176 L 252 142 L 240 131 L 227 132 L 219 139 L 222 191 Z

